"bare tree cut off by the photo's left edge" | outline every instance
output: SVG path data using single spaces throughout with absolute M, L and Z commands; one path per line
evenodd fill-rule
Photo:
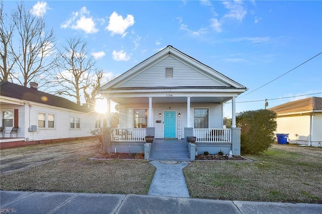
M 0 3 L 0 80 L 8 81 L 17 58 L 13 54 L 12 38 L 14 24 L 11 18 L 3 13 L 3 2 Z

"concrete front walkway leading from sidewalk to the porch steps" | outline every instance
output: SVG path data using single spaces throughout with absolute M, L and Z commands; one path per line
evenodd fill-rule
M 190 197 L 182 169 L 188 162 L 151 161 L 156 171 L 148 195 Z

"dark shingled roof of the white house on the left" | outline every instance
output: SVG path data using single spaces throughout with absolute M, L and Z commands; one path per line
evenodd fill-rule
M 39 91 L 35 88 L 28 88 L 12 82 L 0 82 L 0 95 L 12 98 L 22 99 L 26 101 L 38 102 L 56 107 L 79 111 L 88 112 L 86 106 L 79 106 L 63 97 L 55 96 L 50 93 Z

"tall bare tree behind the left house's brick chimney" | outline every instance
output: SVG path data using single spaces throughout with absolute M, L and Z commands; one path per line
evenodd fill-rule
M 47 31 L 43 18 L 32 15 L 23 3 L 12 13 L 12 20 L 18 34 L 16 42 L 19 43 L 14 57 L 22 74 L 22 78 L 17 79 L 24 86 L 30 81 L 44 84 L 45 73 L 55 66 L 53 30 Z

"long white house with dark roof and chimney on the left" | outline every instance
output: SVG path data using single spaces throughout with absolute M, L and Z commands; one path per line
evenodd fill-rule
M 91 129 L 102 124 L 99 115 L 89 112 L 88 108 L 39 91 L 37 83 L 30 85 L 28 88 L 1 82 L 0 117 L 1 127 L 5 127 L 5 133 L 1 133 L 2 148 L 8 142 L 12 142 L 12 145 L 29 145 L 31 142 L 88 137 L 92 136 Z M 10 135 L 13 127 L 19 127 L 18 135 Z

